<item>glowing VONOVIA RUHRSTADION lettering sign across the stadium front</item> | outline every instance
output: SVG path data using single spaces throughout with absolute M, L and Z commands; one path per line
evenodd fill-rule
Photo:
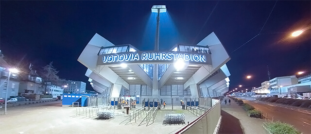
M 98 65 L 120 63 L 173 63 L 184 60 L 193 64 L 210 64 L 210 54 L 182 51 L 136 51 L 99 55 Z

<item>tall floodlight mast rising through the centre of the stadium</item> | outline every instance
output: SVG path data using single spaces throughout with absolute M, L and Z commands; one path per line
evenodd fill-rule
M 160 13 L 165 13 L 166 12 L 166 5 L 154 5 L 151 8 L 152 13 L 157 13 L 156 17 L 156 30 L 155 30 L 155 51 L 159 50 L 159 34 L 160 34 L 160 29 L 159 29 L 159 22 L 160 22 Z M 153 90 L 153 95 L 158 96 L 158 65 L 154 65 L 154 74 L 153 74 L 153 84 L 152 84 L 152 90 Z

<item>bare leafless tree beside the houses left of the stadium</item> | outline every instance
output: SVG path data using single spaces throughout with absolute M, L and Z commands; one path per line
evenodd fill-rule
M 45 84 L 44 94 L 46 94 L 48 83 L 60 85 L 61 79 L 57 76 L 57 73 L 58 71 L 56 70 L 56 68 L 53 67 L 53 62 L 50 62 L 50 64 L 43 67 L 41 76 Z

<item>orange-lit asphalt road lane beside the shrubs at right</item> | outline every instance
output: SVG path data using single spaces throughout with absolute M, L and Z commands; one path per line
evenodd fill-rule
M 279 120 L 293 125 L 303 134 L 311 134 L 311 114 L 287 109 L 281 106 L 262 104 L 256 101 L 244 101 L 262 111 L 263 116 L 267 113 L 267 118 L 270 120 L 274 117 L 274 120 Z

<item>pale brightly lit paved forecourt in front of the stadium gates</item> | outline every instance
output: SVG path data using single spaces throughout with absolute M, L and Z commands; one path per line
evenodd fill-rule
M 80 107 L 81 108 L 81 107 Z M 79 110 L 79 109 L 78 109 Z M 81 109 L 82 110 L 82 109 Z M 114 110 L 116 116 L 108 120 L 96 119 L 96 114 L 78 115 L 77 107 L 62 107 L 61 101 L 44 104 L 8 107 L 7 115 L 0 115 L 2 134 L 173 134 L 193 121 L 196 116 L 186 110 L 159 110 L 153 124 L 138 126 L 144 115 L 127 123 L 125 109 Z M 3 108 L 1 109 L 3 114 Z M 185 125 L 162 125 L 165 114 L 185 114 Z M 121 123 L 121 124 L 120 124 Z

